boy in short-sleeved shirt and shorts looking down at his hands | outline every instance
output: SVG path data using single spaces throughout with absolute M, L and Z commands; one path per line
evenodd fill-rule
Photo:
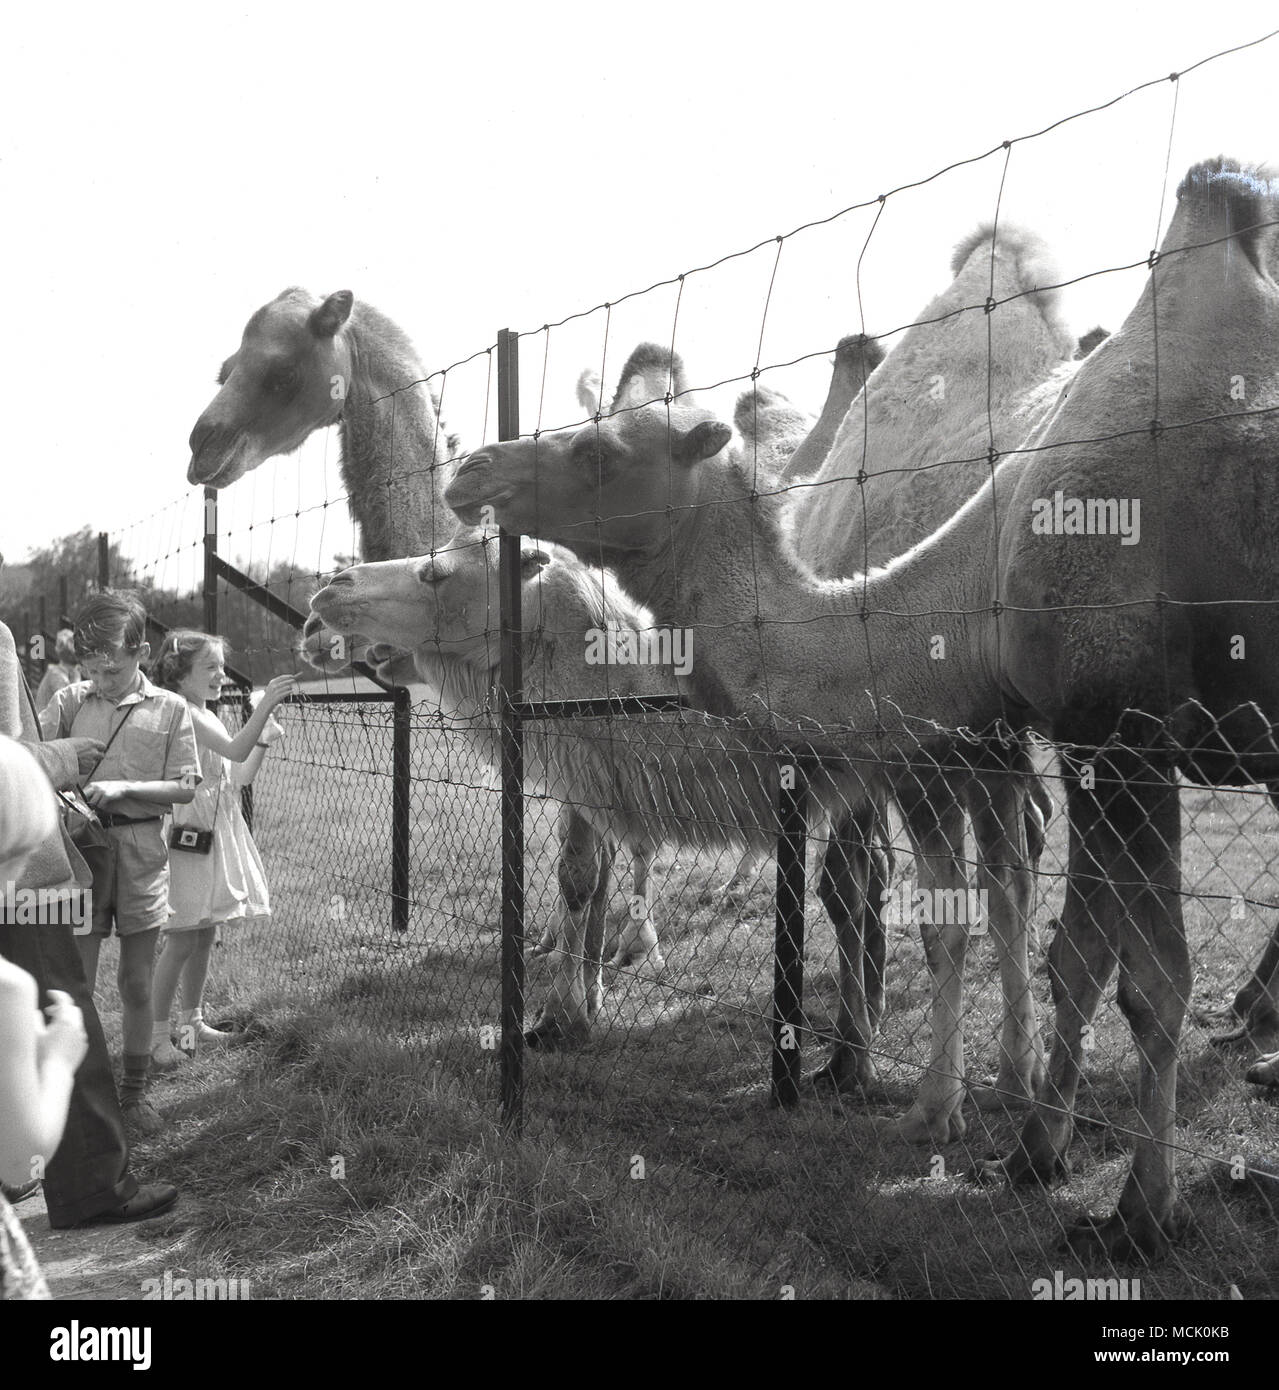
M 85 801 L 107 828 L 108 867 L 93 883 L 93 926 L 76 937 L 85 977 L 97 983 L 97 955 L 114 924 L 120 935 L 124 1077 L 120 1108 L 143 1134 L 164 1122 L 146 1098 L 152 1056 L 152 970 L 168 922 L 164 815 L 189 802 L 200 759 L 186 701 L 142 674 L 150 655 L 146 609 L 129 591 L 103 589 L 75 620 L 75 655 L 88 680 L 54 695 L 40 714 L 46 738 L 96 738 L 107 751 Z

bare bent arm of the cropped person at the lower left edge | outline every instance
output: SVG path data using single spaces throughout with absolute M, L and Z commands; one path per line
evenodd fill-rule
M 71 998 L 54 999 L 46 1023 L 36 981 L 0 959 L 0 1180 L 21 1187 L 43 1177 L 67 1125 L 71 1083 L 89 1040 Z

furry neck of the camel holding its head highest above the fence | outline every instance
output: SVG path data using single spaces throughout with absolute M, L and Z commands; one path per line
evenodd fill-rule
M 342 409 L 342 481 L 363 557 L 439 549 L 456 527 L 441 500 L 448 446 L 421 363 L 366 310 L 348 329 L 352 379 Z

